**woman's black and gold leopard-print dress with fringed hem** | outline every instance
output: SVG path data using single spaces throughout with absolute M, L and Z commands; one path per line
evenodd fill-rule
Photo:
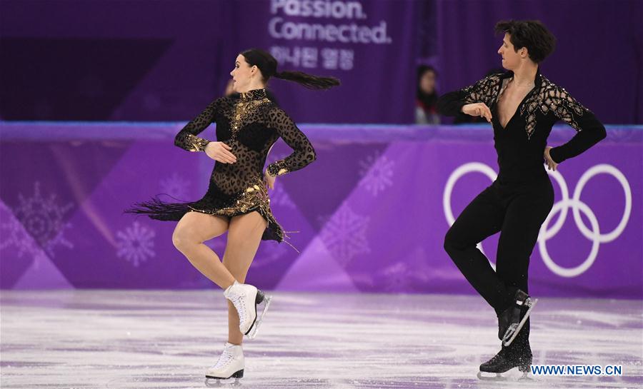
M 270 210 L 263 168 L 271 146 L 281 137 L 294 152 L 269 164 L 271 176 L 299 170 L 315 160 L 310 141 L 265 89 L 236 97 L 217 98 L 176 134 L 174 144 L 187 151 L 204 151 L 208 140 L 198 135 L 216 123 L 216 139 L 231 147 L 235 163 L 214 164 L 208 191 L 199 201 L 165 203 L 153 198 L 126 212 L 162 221 L 178 221 L 187 212 L 233 217 L 257 211 L 268 222 L 262 239 L 283 241 L 284 231 Z

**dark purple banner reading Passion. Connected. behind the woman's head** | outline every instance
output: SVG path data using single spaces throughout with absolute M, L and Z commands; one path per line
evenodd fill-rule
M 0 117 L 189 120 L 224 95 L 237 54 L 260 47 L 274 53 L 281 70 L 342 80 L 326 92 L 271 82 L 296 121 L 412 123 L 416 6 L 412 0 L 2 1 Z

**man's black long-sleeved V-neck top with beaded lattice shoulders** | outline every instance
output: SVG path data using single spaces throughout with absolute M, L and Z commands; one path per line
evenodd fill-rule
M 440 96 L 437 102 L 444 115 L 456 116 L 469 103 L 485 103 L 492 111 L 494 148 L 502 183 L 529 183 L 547 178 L 543 158 L 547 138 L 557 121 L 576 130 L 569 141 L 549 149 L 556 163 L 583 153 L 601 141 L 607 132 L 592 111 L 587 110 L 561 87 L 537 71 L 534 87 L 524 96 L 517 111 L 502 126 L 498 115 L 498 99 L 514 76 L 512 71 L 493 74 L 464 89 Z

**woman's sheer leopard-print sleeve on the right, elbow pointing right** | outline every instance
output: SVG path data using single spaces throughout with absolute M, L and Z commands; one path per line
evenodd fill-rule
M 271 109 L 269 126 L 275 128 L 279 136 L 294 150 L 286 158 L 268 165 L 267 171 L 271 176 L 281 176 L 299 170 L 315 160 L 315 149 L 310 141 L 281 108 Z

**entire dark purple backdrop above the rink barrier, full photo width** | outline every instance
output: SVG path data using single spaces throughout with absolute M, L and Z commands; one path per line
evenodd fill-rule
M 275 80 L 296 121 L 412 123 L 416 66 L 437 68 L 439 93 L 482 79 L 509 18 L 552 29 L 543 74 L 604 123 L 643 123 L 638 0 L 3 0 L 0 118 L 186 121 L 259 46 L 282 69 L 343 81 L 322 93 Z

